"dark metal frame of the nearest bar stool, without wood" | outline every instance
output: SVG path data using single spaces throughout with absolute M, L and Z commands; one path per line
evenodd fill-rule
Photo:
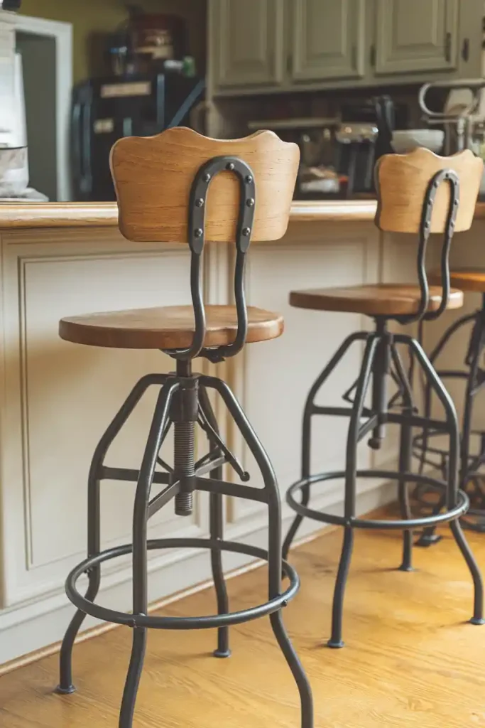
M 201 293 L 201 253 L 204 249 L 204 221 L 207 193 L 210 182 L 217 173 L 233 172 L 239 180 L 240 213 L 236 229 L 236 266 L 234 293 L 238 314 L 238 330 L 233 344 L 216 349 L 204 349 L 205 311 Z M 189 207 L 188 239 L 191 248 L 191 294 L 195 314 L 195 333 L 191 347 L 166 352 L 177 360 L 177 371 L 169 374 L 149 374 L 137 382 L 118 414 L 109 425 L 98 444 L 88 479 L 88 555 L 68 575 L 66 593 L 77 607 L 71 625 L 65 633 L 60 652 L 60 684 L 57 692 L 75 691 L 72 680 L 72 650 L 79 628 L 86 614 L 98 619 L 127 625 L 133 630 L 132 655 L 121 703 L 119 728 L 131 728 L 135 711 L 138 685 L 143 669 L 147 629 L 193 630 L 217 628 L 215 657 L 228 657 L 228 627 L 269 614 L 271 627 L 278 645 L 297 683 L 301 701 L 302 728 L 313 728 L 313 700 L 310 684 L 300 660 L 284 628 L 281 609 L 288 604 L 300 587 L 297 573 L 281 558 L 281 503 L 276 474 L 260 440 L 249 424 L 244 411 L 231 389 L 224 381 L 213 376 L 192 372 L 192 360 L 207 357 L 212 362 L 237 354 L 246 341 L 248 320 L 244 296 L 244 264 L 251 239 L 254 221 L 255 184 L 252 170 L 237 157 L 215 157 L 203 165 L 193 181 Z M 105 456 L 113 440 L 129 418 L 148 387 L 161 387 L 151 422 L 145 453 L 140 470 L 108 467 Z M 252 451 L 264 481 L 263 488 L 249 488 L 223 480 L 223 465 L 231 464 L 241 480 L 249 480 L 249 474 L 221 440 L 217 420 L 207 395 L 207 390 L 217 392 L 223 399 L 246 444 Z M 209 453 L 194 462 L 194 430 L 202 427 L 209 440 Z M 161 446 L 173 425 L 175 435 L 174 467 L 160 457 Z M 164 472 L 156 470 L 156 466 Z M 204 475 L 209 473 L 209 478 Z M 100 483 L 102 480 L 127 480 L 137 483 L 133 513 L 133 542 L 100 550 Z M 153 483 L 166 487 L 151 498 Z M 147 539 L 148 519 L 170 501 L 175 502 L 177 515 L 191 515 L 193 493 L 207 491 L 210 496 L 209 539 L 171 538 Z M 265 503 L 268 506 L 268 550 L 223 539 L 223 496 L 233 496 Z M 196 547 L 210 550 L 212 574 L 217 596 L 217 614 L 204 617 L 159 617 L 148 615 L 148 550 L 173 547 Z M 268 601 L 265 604 L 229 612 L 228 595 L 222 565 L 222 552 L 244 553 L 268 561 Z M 100 588 L 100 566 L 103 562 L 132 553 L 133 565 L 133 612 L 116 612 L 95 604 Z M 76 587 L 81 574 L 87 574 L 89 586 L 83 596 Z M 288 577 L 289 586 L 281 587 L 282 575 Z

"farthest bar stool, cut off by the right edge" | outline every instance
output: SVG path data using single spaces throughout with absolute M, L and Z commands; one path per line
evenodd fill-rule
M 430 274 L 436 280 L 438 274 Z M 472 416 L 475 397 L 485 384 L 485 370 L 481 360 L 485 349 L 485 270 L 484 269 L 456 269 L 450 274 L 452 285 L 459 287 L 465 293 L 481 293 L 481 306 L 473 313 L 460 317 L 444 332 L 430 354 L 430 361 L 436 365 L 438 357 L 453 342 L 454 337 L 463 327 L 470 325 L 470 336 L 464 352 L 464 365 L 462 369 L 438 368 L 437 373 L 441 379 L 461 380 L 465 384 L 463 400 L 462 427 L 460 432 L 460 488 L 468 494 L 470 509 L 462 516 L 462 525 L 472 531 L 485 533 L 485 484 L 483 475 L 478 471 L 485 462 L 485 431 L 472 430 Z M 455 344 L 456 345 L 456 344 Z M 430 416 L 432 405 L 432 392 L 425 387 L 425 413 Z M 420 459 L 420 472 L 425 465 L 430 465 L 441 472 L 448 470 L 448 451 L 440 445 L 439 433 L 425 428 L 413 440 L 414 454 Z M 478 440 L 478 447 L 472 448 L 472 436 Z M 475 452 L 472 450 L 476 449 Z M 439 513 L 443 507 L 443 500 L 433 505 L 427 500 L 426 488 L 417 488 L 415 496 L 432 513 Z M 425 529 L 417 544 L 428 546 L 439 540 L 434 529 Z

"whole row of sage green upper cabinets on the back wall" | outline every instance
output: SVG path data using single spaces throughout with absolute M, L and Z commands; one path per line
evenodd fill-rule
M 209 0 L 215 95 L 481 76 L 484 0 Z

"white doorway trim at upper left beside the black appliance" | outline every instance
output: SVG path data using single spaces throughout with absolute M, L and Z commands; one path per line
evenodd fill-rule
M 55 39 L 57 200 L 71 199 L 70 127 L 73 87 L 73 26 L 57 20 L 15 15 L 15 31 Z

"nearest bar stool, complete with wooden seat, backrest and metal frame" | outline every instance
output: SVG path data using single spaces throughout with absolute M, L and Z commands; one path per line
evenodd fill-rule
M 234 141 L 205 138 L 185 128 L 172 128 L 152 138 L 124 138 L 113 147 L 111 170 L 119 204 L 119 227 L 136 242 L 188 242 L 191 250 L 193 306 L 88 314 L 61 320 L 66 341 L 95 347 L 161 349 L 176 363 L 176 371 L 153 373 L 140 379 L 100 440 L 88 480 L 87 558 L 68 575 L 66 592 L 77 607 L 60 654 L 58 692 L 74 691 L 71 676 L 73 642 L 86 614 L 127 625 L 133 631 L 132 655 L 121 703 L 120 728 L 131 728 L 138 684 L 143 668 L 147 629 L 194 630 L 217 628 L 216 657 L 228 657 L 228 627 L 266 614 L 292 670 L 301 701 L 302 728 L 312 728 L 312 696 L 302 665 L 284 628 L 281 609 L 297 593 L 296 572 L 281 560 L 281 505 L 276 475 L 260 440 L 241 405 L 224 381 L 192 371 L 193 359 L 217 363 L 233 357 L 247 342 L 268 341 L 283 332 L 279 314 L 246 307 L 244 265 L 250 240 L 278 240 L 289 220 L 298 148 L 282 142 L 273 132 L 257 132 Z M 210 194 L 209 193 L 210 187 Z M 201 262 L 204 241 L 236 242 L 234 295 L 236 306 L 204 306 Z M 140 470 L 111 467 L 105 456 L 148 387 L 159 387 Z M 262 474 L 264 487 L 223 480 L 222 467 L 232 466 L 242 481 L 249 480 L 241 464 L 220 437 L 208 390 L 222 397 L 249 446 Z M 208 453 L 195 462 L 196 424 L 207 435 Z M 173 426 L 174 464 L 160 456 L 161 445 Z M 159 467 L 157 467 L 159 466 Z M 209 478 L 204 475 L 209 474 Z M 101 550 L 100 484 L 102 480 L 136 483 L 132 544 Z M 151 495 L 151 487 L 164 486 Z M 192 513 L 194 491 L 210 494 L 209 538 L 148 539 L 148 520 L 173 502 L 175 513 Z M 225 541 L 223 496 L 265 503 L 269 513 L 268 550 Z M 217 614 L 202 617 L 164 617 L 148 614 L 147 552 L 165 548 L 209 550 L 217 596 Z M 268 601 L 229 612 L 221 552 L 244 553 L 268 561 Z M 100 566 L 132 554 L 133 612 L 126 614 L 95 604 L 100 587 Z M 83 596 L 76 582 L 87 574 Z M 283 590 L 281 574 L 289 579 Z

